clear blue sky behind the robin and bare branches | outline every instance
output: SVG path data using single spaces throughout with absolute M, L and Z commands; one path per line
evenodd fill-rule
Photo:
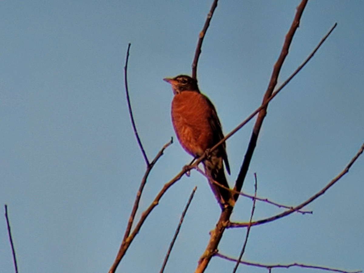
M 152 159 L 175 137 L 173 94 L 162 79 L 190 74 L 211 2 L 1 3 L 0 204 L 8 204 L 20 272 L 108 271 L 145 171 L 124 95 L 127 44 L 132 44 L 128 82 L 135 122 Z M 225 132 L 261 103 L 299 2 L 219 2 L 203 43 L 198 80 Z M 257 173 L 259 196 L 301 203 L 359 150 L 364 139 L 363 8 L 362 1 L 309 1 L 280 83 L 338 25 L 270 104 L 244 184 L 247 193 L 253 193 Z M 252 126 L 227 142 L 230 185 Z M 175 141 L 150 174 L 140 209 L 190 160 Z M 244 259 L 363 270 L 363 160 L 306 207 L 312 215 L 294 214 L 254 227 Z M 220 211 L 206 179 L 195 171 L 162 198 L 117 272 L 159 272 L 194 186 L 197 192 L 165 271 L 193 272 Z M 251 205 L 240 198 L 232 218 L 248 221 Z M 259 202 L 254 219 L 280 211 Z M 228 230 L 219 251 L 237 257 L 244 236 L 244 229 Z M 13 272 L 5 218 L 0 257 L 0 271 Z M 207 272 L 233 267 L 213 258 Z

